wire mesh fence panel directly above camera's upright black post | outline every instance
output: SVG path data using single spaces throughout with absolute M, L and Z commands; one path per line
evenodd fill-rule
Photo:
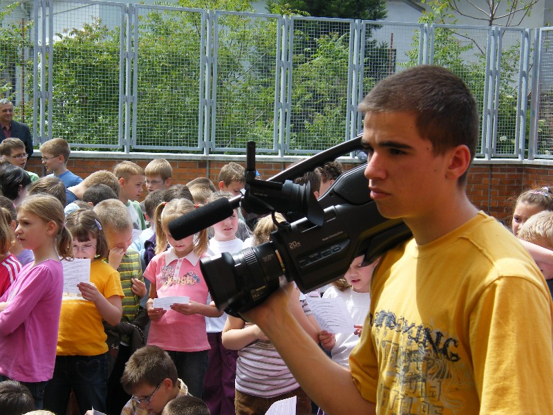
M 278 151 L 282 17 L 215 12 L 212 151 Z

